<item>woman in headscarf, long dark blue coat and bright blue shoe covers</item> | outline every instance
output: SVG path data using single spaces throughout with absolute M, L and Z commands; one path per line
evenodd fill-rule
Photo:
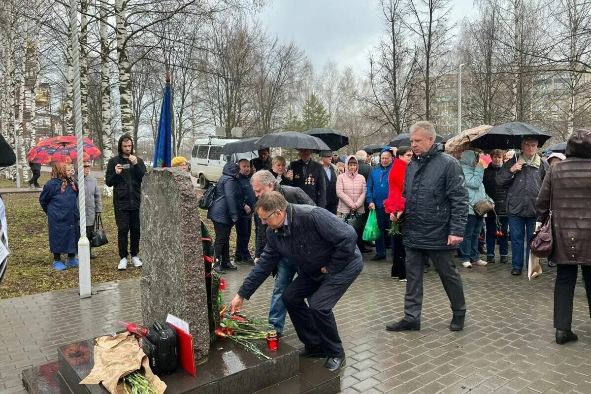
M 77 197 L 78 184 L 72 178 L 70 164 L 54 164 L 51 180 L 44 185 L 39 203 L 49 220 L 49 249 L 53 253 L 53 268 L 57 271 L 78 266 L 75 258 L 80 239 Z M 66 264 L 61 262 L 61 253 L 68 255 Z

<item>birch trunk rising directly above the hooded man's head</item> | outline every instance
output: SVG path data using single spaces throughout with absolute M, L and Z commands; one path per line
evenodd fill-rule
M 115 1 L 115 21 L 117 37 L 118 71 L 119 71 L 119 111 L 121 112 L 121 129 L 123 133 L 132 135 L 134 143 L 134 113 L 131 106 L 131 66 L 127 57 L 127 21 L 125 19 L 124 0 Z

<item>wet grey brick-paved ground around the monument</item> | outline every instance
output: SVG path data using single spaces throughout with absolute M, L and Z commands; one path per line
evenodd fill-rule
M 369 256 L 368 256 L 369 257 Z M 421 331 L 389 333 L 402 317 L 405 285 L 389 278 L 389 264 L 366 262 L 336 307 L 348 360 L 343 393 L 589 394 L 591 324 L 584 289 L 577 288 L 577 343 L 558 346 L 552 327 L 554 269 L 528 282 L 509 275 L 509 265 L 461 269 L 467 327 L 447 328 L 449 301 L 437 273 L 427 273 Z M 229 302 L 248 273 L 225 275 Z M 56 275 L 59 273 L 56 272 Z M 245 302 L 245 311 L 266 315 L 272 281 Z M 138 280 L 96 286 L 90 299 L 75 289 L 0 300 L 0 393 L 24 393 L 20 372 L 56 357 L 56 346 L 111 333 L 116 323 L 140 321 Z M 291 324 L 282 340 L 298 346 Z

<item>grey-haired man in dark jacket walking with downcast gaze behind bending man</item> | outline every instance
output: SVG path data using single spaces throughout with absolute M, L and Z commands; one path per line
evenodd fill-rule
M 468 219 L 468 191 L 459 162 L 435 145 L 435 126 L 417 122 L 410 128 L 413 159 L 404 178 L 406 206 L 402 213 L 402 244 L 406 252 L 407 291 L 404 318 L 389 331 L 420 330 L 423 307 L 423 266 L 431 259 L 452 304 L 450 330 L 464 328 L 466 301 L 454 249 L 463 240 Z M 398 219 L 401 214 L 398 214 Z

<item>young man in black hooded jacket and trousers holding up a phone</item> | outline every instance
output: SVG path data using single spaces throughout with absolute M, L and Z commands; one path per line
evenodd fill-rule
M 124 134 L 119 138 L 119 154 L 109 159 L 105 173 L 105 184 L 113 187 L 113 208 L 117 224 L 119 245 L 119 265 L 117 269 L 127 269 L 127 236 L 131 231 L 131 263 L 141 267 L 139 252 L 139 203 L 141 200 L 142 179 L 146 173 L 144 161 L 134 155 L 134 142 Z

